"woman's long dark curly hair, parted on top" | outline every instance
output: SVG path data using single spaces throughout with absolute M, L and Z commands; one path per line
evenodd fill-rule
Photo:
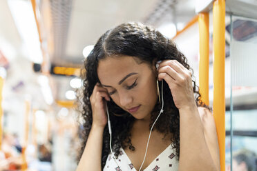
M 84 61 L 84 69 L 86 70 L 83 79 L 83 99 L 82 99 L 82 118 L 84 120 L 84 134 L 82 149 L 79 154 L 79 158 L 82 156 L 88 134 L 91 131 L 91 125 L 93 122 L 91 102 L 89 97 L 93 93 L 94 86 L 99 82 L 97 76 L 97 67 L 99 60 L 105 59 L 106 57 L 122 57 L 131 56 L 141 63 L 153 63 L 153 61 L 160 61 L 165 59 L 175 59 L 182 63 L 182 65 L 191 70 L 187 63 L 186 57 L 182 54 L 175 43 L 170 39 L 164 37 L 160 32 L 145 26 L 142 23 L 122 23 L 99 38 L 95 44 L 93 50 Z M 191 70 L 193 72 L 193 70 Z M 195 94 L 196 104 L 199 106 L 206 106 L 200 100 L 199 88 L 196 86 L 196 82 L 193 81 L 193 92 Z M 164 133 L 164 135 L 171 133 L 173 136 L 171 145 L 175 149 L 176 156 L 179 158 L 180 154 L 180 114 L 178 108 L 175 107 L 171 90 L 168 84 L 164 81 L 163 85 L 163 98 L 164 98 L 164 111 L 169 114 L 161 114 L 158 122 L 155 124 L 154 129 L 158 132 Z M 166 104 L 165 104 L 166 102 Z M 169 102 L 169 105 L 167 105 Z M 134 117 L 128 112 L 122 110 L 112 100 L 108 101 L 108 111 L 110 113 L 112 131 L 113 131 L 113 151 L 117 157 L 120 148 L 128 147 L 130 150 L 135 150 L 131 143 L 131 128 Z M 155 107 L 151 113 L 151 123 L 149 130 L 153 122 L 155 121 L 160 111 L 161 105 L 156 102 Z M 118 115 L 118 116 L 117 116 Z M 109 134 L 108 125 L 104 128 L 103 147 L 102 147 L 102 168 L 106 163 L 106 159 L 110 152 L 109 148 Z

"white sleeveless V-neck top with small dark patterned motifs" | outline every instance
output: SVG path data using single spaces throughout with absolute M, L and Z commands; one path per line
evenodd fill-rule
M 147 156 L 146 156 L 147 157 Z M 120 148 L 120 154 L 116 159 L 117 163 L 111 156 L 108 155 L 104 171 L 137 171 L 133 163 L 126 155 L 126 152 Z M 118 165 L 117 165 L 118 164 Z M 175 150 L 169 145 L 158 157 L 156 157 L 144 171 L 177 171 L 178 160 L 175 157 Z

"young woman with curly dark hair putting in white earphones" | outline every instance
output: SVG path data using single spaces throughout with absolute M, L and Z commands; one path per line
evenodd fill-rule
M 123 23 L 99 38 L 84 66 L 77 171 L 220 170 L 213 116 L 173 41 L 142 23 Z

